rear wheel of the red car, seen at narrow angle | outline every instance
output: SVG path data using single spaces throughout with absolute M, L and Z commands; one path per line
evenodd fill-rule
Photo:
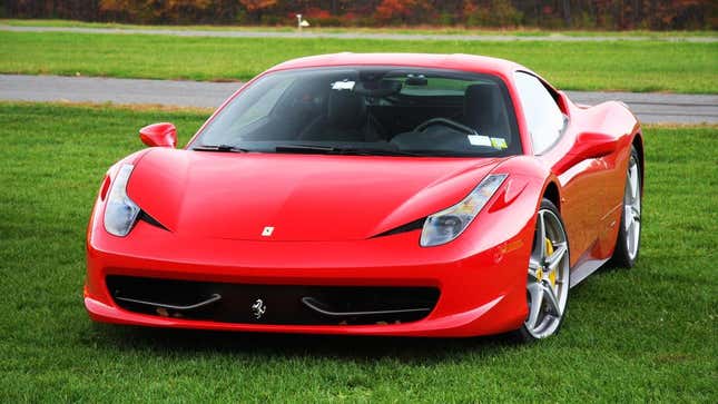
M 636 265 L 638 250 L 641 245 L 641 167 L 638 151 L 631 147 L 631 157 L 626 171 L 626 188 L 623 190 L 623 210 L 621 225 L 613 250 L 613 264 L 627 268 Z

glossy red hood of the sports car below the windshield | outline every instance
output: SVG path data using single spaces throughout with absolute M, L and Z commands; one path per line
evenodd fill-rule
M 499 162 L 153 149 L 128 195 L 169 230 L 247 240 L 364 239 L 446 208 Z M 274 227 L 263 236 L 265 227 Z

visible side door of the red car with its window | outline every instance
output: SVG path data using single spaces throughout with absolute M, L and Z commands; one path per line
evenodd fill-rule
M 561 184 L 559 209 L 567 228 L 573 267 L 579 260 L 590 258 L 597 244 L 602 209 L 597 181 L 600 181 L 604 165 L 598 159 L 588 159 L 570 167 L 559 167 L 558 162 L 573 146 L 578 126 L 561 109 L 553 90 L 535 76 L 518 71 L 514 79 L 533 152 L 552 168 Z

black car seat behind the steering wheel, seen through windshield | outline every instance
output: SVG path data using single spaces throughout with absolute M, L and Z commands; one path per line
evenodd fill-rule
M 506 137 L 511 134 L 501 88 L 493 83 L 466 87 L 463 124 L 479 135 Z

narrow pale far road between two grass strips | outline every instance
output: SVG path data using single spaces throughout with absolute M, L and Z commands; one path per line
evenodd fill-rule
M 79 27 L 14 27 L 0 24 L 0 31 L 13 32 L 77 32 L 77 33 L 146 33 L 174 37 L 218 37 L 218 38 L 336 38 L 336 39 L 381 39 L 402 41 L 561 41 L 561 42 L 601 42 L 601 41 L 667 41 L 667 42 L 718 42 L 717 37 L 646 37 L 646 36 L 591 36 L 574 37 L 561 33 L 549 36 L 517 35 L 446 35 L 446 33 L 381 33 L 381 32 L 321 32 L 296 31 L 239 31 L 239 30 L 197 30 L 197 29 L 141 29 L 141 28 L 79 28 Z

